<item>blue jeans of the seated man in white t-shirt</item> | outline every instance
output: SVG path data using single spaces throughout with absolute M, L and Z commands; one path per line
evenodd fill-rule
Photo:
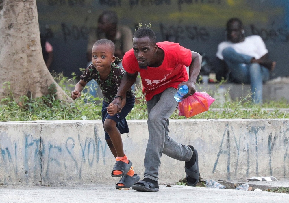
M 269 70 L 258 63 L 251 63 L 253 57 L 237 53 L 231 47 L 225 48 L 222 54 L 235 81 L 250 84 L 253 102 L 262 104 L 263 83 L 270 77 Z

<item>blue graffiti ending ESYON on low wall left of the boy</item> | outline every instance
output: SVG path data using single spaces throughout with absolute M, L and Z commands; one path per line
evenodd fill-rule
M 7 137 L 5 132 L 1 134 Z M 0 170 L 4 171 L 3 179 L 0 178 L 1 183 L 11 183 L 12 177 L 22 177 L 24 174 L 25 180 L 19 178 L 22 184 L 27 184 L 29 180 L 41 184 L 42 181 L 48 181 L 49 175 L 54 171 L 67 168 L 68 171 L 75 171 L 74 174 L 67 174 L 68 177 L 78 176 L 80 180 L 83 167 L 93 169 L 96 164 L 105 165 L 107 145 L 99 137 L 97 128 L 94 138 L 78 135 L 77 140 L 68 137 L 64 144 L 52 144 L 51 141 L 46 143 L 45 140 L 31 134 L 23 136 L 23 144 L 11 144 L 10 140 L 1 139 Z M 17 157 L 18 155 L 21 157 Z

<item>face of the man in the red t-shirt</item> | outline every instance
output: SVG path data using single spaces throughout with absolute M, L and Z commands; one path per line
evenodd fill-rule
M 157 51 L 157 45 L 153 44 L 149 37 L 133 38 L 132 48 L 134 56 L 138 60 L 141 69 L 147 69 L 147 66 L 153 63 L 153 57 Z

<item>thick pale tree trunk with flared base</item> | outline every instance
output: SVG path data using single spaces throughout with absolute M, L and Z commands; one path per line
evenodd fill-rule
M 56 84 L 57 97 L 71 101 L 47 69 L 40 44 L 36 0 L 0 0 L 0 99 L 8 94 L 4 82 L 10 82 L 15 100 L 31 93 L 48 94 Z

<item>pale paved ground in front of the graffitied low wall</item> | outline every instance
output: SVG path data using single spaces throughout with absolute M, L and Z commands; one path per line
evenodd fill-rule
M 288 187 L 289 181 L 258 182 L 253 185 Z M 158 192 L 117 190 L 114 185 L 1 186 L 0 202 L 288 202 L 289 194 L 266 191 L 237 191 L 183 185 L 160 185 Z

